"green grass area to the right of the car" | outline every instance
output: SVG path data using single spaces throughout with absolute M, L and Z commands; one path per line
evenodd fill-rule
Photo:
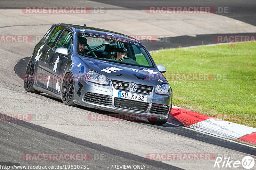
M 156 64 L 167 69 L 165 77 L 173 90 L 173 105 L 256 127 L 255 42 L 177 48 L 151 55 Z M 189 81 L 186 77 L 177 79 L 177 74 L 209 77 Z

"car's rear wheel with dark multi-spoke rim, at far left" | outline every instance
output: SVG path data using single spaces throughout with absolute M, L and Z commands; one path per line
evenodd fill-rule
M 35 81 L 34 74 L 35 74 L 35 66 L 34 66 L 34 63 L 30 61 L 26 68 L 26 74 L 24 78 L 24 89 L 31 93 L 40 94 L 41 93 L 40 91 L 37 91 L 33 88 L 33 84 Z

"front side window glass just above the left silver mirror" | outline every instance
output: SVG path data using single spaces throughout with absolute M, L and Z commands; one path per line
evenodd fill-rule
M 69 52 L 72 47 L 72 42 L 73 42 L 72 32 L 70 32 L 69 30 L 65 30 L 60 35 L 60 38 L 58 39 L 54 49 L 56 50 L 57 48 L 63 47 L 63 48 L 67 48 Z

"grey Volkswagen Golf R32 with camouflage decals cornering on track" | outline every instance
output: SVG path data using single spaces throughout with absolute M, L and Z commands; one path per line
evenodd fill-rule
M 64 104 L 146 117 L 165 124 L 172 89 L 147 49 L 124 34 L 81 25 L 54 24 L 35 46 L 24 88 Z

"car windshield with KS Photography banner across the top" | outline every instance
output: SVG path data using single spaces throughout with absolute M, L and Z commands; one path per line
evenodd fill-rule
M 99 60 L 153 68 L 150 57 L 139 42 L 109 35 L 78 32 L 78 53 Z

